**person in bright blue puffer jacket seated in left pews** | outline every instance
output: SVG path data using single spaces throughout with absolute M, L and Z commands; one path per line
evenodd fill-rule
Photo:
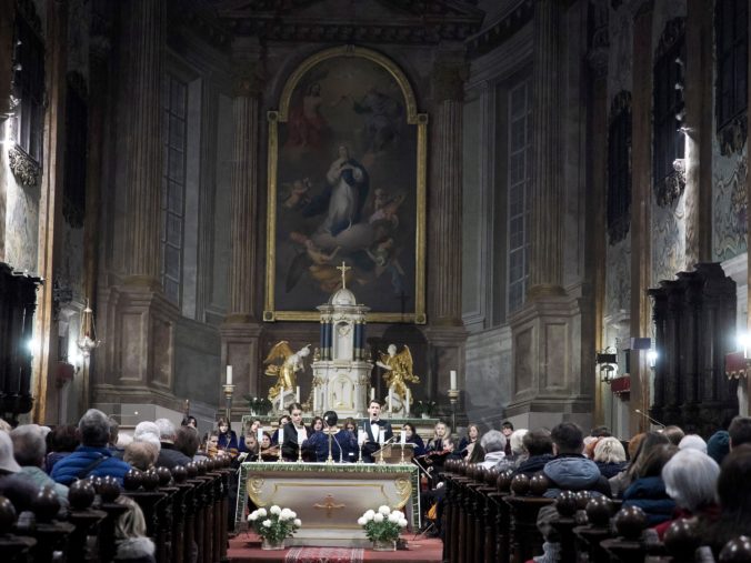
M 122 484 L 122 476 L 130 465 L 112 456 L 107 448 L 110 438 L 110 422 L 101 411 L 89 409 L 78 423 L 81 439 L 74 452 L 56 463 L 51 477 L 58 483 L 69 485 L 76 479 L 89 475 L 110 475 Z

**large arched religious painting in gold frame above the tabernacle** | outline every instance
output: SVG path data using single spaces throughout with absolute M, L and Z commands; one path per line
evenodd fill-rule
M 425 322 L 427 127 L 376 51 L 328 49 L 292 73 L 269 112 L 266 321 L 318 321 L 346 272 L 369 320 Z

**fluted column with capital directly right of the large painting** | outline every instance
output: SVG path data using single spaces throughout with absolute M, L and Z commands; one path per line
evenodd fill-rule
M 430 193 L 430 280 L 432 316 L 439 324 L 461 324 L 462 93 L 465 67 L 438 63 L 433 189 Z

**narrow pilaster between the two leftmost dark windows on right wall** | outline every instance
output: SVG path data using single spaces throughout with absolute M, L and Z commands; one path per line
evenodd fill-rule
M 652 2 L 644 2 L 633 20 L 633 93 L 631 98 L 631 335 L 649 335 L 652 306 Z M 631 411 L 648 412 L 650 369 L 647 354 L 631 352 Z M 630 433 L 648 429 L 645 419 L 631 415 Z

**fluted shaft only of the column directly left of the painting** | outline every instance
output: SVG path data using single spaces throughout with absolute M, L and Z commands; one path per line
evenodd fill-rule
M 256 316 L 256 237 L 253 220 L 258 198 L 258 98 L 240 92 L 232 104 L 234 149 L 232 159 L 232 215 L 230 218 L 230 318 Z

